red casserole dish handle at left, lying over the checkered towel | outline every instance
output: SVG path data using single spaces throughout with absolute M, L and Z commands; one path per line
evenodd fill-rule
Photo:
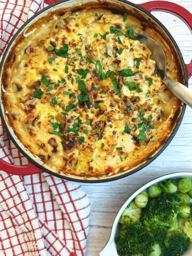
M 29 175 L 43 172 L 31 162 L 29 162 L 28 165 L 20 166 L 7 163 L 3 159 L 0 159 L 0 169 L 2 171 L 5 171 L 6 173 L 11 173 L 15 175 Z

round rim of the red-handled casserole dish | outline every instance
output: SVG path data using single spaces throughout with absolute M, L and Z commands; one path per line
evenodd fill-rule
M 35 15 L 33 15 L 33 17 L 31 17 L 29 20 L 27 20 L 22 26 L 20 29 L 18 29 L 17 33 L 15 33 L 15 35 L 13 36 L 13 38 L 11 39 L 10 43 L 7 45 L 6 47 L 6 50 L 3 54 L 3 57 L 2 57 L 2 61 L 1 61 L 1 64 L 0 64 L 0 78 L 2 76 L 2 71 L 3 71 L 3 66 L 4 66 L 4 62 L 6 60 L 6 57 L 7 57 L 7 53 L 9 53 L 9 50 L 11 49 L 11 46 L 14 44 L 14 41 L 15 39 L 21 34 L 21 32 L 23 31 L 23 29 L 25 29 L 25 27 L 33 20 L 38 17 L 39 14 L 51 9 L 52 7 L 54 6 L 57 6 L 59 4 L 65 4 L 65 2 L 69 2 L 70 0 L 63 0 L 63 1 L 60 1 L 60 2 L 57 2 L 57 3 L 54 3 L 54 4 L 51 4 L 49 6 L 46 6 L 44 9 L 42 9 L 41 11 L 39 11 L 38 13 L 36 13 Z M 88 3 L 91 3 L 92 1 L 88 2 Z M 182 68 L 182 72 L 183 72 L 183 79 L 185 81 L 185 85 L 188 87 L 188 79 L 187 79 L 187 71 L 186 71 L 186 66 L 185 66 L 185 62 L 182 58 L 182 54 L 179 50 L 179 47 L 177 45 L 177 43 L 174 41 L 173 37 L 171 36 L 171 34 L 169 33 L 169 31 L 164 27 L 164 25 L 158 20 L 156 19 L 153 14 L 149 13 L 148 11 L 146 11 L 145 9 L 143 9 L 142 7 L 138 6 L 137 4 L 133 4 L 131 2 L 128 2 L 128 1 L 125 1 L 125 0 L 118 0 L 118 1 L 103 1 L 103 3 L 117 3 L 117 4 L 127 4 L 135 9 L 138 9 L 139 11 L 143 12 L 145 15 L 147 15 L 150 19 L 152 19 L 154 22 L 157 23 L 157 25 L 163 30 L 163 32 L 167 35 L 167 37 L 170 38 L 170 41 L 172 43 L 172 45 L 174 46 L 175 48 L 175 51 L 177 52 L 178 54 L 178 57 L 179 57 L 179 60 L 180 60 L 180 63 L 181 63 L 181 68 Z M 94 4 L 97 4 L 97 2 L 93 2 Z M 83 4 L 83 3 L 82 3 Z M 78 5 L 71 5 L 70 7 L 73 8 L 73 7 L 77 7 L 77 6 L 81 6 L 82 4 Z M 62 8 L 62 7 L 61 7 Z M 59 9 L 61 9 L 59 8 Z M 65 8 L 65 6 L 63 6 L 63 8 Z M 58 10 L 59 10 L 58 9 Z M 12 135 L 12 132 L 10 131 L 10 128 L 11 126 L 9 126 L 9 124 L 7 124 L 6 122 L 6 118 L 4 116 L 4 108 L 2 109 L 2 106 L 3 106 L 3 103 L 2 103 L 2 100 L 1 100 L 1 108 L 0 108 L 0 116 L 1 116 L 1 119 L 2 119 L 2 123 L 5 127 L 5 130 L 6 132 L 9 134 L 9 137 L 11 138 L 12 142 L 14 143 L 14 145 L 20 150 L 20 152 L 33 164 L 35 164 L 37 167 L 39 167 L 40 169 L 42 169 L 43 171 L 46 171 L 50 174 L 53 174 L 55 175 L 56 177 L 59 177 L 59 178 L 62 178 L 62 179 L 66 179 L 66 180 L 71 180 L 71 181 L 78 181 L 78 182 L 89 182 L 89 183 L 99 183 L 99 182 L 107 182 L 107 181 L 113 181 L 113 180 L 117 180 L 117 179 L 121 179 L 121 178 L 124 178 L 126 176 L 129 176 L 139 170 L 141 170 L 143 167 L 147 166 L 148 164 L 150 164 L 151 162 L 153 162 L 156 157 L 158 157 L 162 152 L 163 150 L 169 145 L 169 143 L 171 142 L 171 140 L 173 139 L 174 135 L 177 133 L 178 129 L 179 129 L 179 126 L 182 122 L 182 118 L 184 116 L 184 113 L 185 113 L 185 109 L 186 109 L 186 105 L 183 103 L 183 105 L 181 105 L 182 109 L 180 111 L 180 117 L 179 117 L 179 120 L 177 122 L 177 124 L 175 125 L 175 127 L 173 128 L 172 130 L 172 133 L 170 135 L 170 137 L 167 137 L 167 140 L 166 142 L 164 143 L 164 145 L 161 147 L 161 149 L 159 149 L 158 151 L 156 151 L 156 153 L 151 156 L 150 158 L 148 158 L 148 160 L 142 164 L 140 164 L 139 166 L 136 166 L 134 167 L 131 171 L 127 170 L 127 171 L 124 171 L 123 173 L 117 173 L 117 174 L 114 174 L 114 175 L 111 175 L 111 177 L 100 177 L 100 178 L 84 178 L 84 177 L 76 177 L 75 175 L 67 175 L 67 174 L 60 174 L 58 173 L 57 171 L 54 171 L 54 170 L 49 170 L 46 166 L 44 166 L 43 164 L 40 164 L 38 163 L 35 158 L 31 157 L 30 155 L 28 155 L 28 149 L 23 145 L 23 148 L 25 147 L 25 149 L 21 148 L 21 146 L 19 145 L 19 143 L 17 142 L 17 140 L 14 138 L 14 136 Z M 21 143 L 22 144 L 22 143 Z M 32 154 L 32 153 L 31 153 Z M 34 155 L 35 157 L 35 155 Z M 51 167 L 50 167 L 51 169 Z M 52 168 L 53 169 L 53 168 Z

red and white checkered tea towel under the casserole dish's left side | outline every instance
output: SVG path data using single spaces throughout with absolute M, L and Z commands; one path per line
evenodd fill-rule
M 34 13 L 55 1 L 0 0 L 0 57 Z M 0 123 L 0 157 L 26 165 Z M 0 256 L 83 256 L 90 203 L 76 183 L 50 174 L 0 171 Z

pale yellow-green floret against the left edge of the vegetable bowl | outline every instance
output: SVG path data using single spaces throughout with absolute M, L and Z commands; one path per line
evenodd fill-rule
M 125 224 L 130 222 L 138 221 L 141 217 L 141 209 L 131 202 L 129 206 L 124 210 L 119 223 Z

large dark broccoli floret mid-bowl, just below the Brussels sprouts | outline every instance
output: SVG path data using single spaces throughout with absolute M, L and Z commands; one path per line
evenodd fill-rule
M 162 194 L 149 200 L 147 206 L 142 210 L 140 220 L 149 227 L 156 224 L 173 227 L 181 205 L 181 200 L 176 193 Z

